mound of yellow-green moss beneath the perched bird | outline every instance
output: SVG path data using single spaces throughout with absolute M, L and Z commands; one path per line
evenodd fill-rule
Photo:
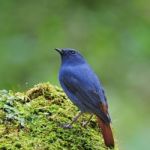
M 77 112 L 63 91 L 49 83 L 26 93 L 0 91 L 0 149 L 107 149 L 95 119 L 87 128 L 81 126 L 87 115 L 72 129 L 62 128 Z

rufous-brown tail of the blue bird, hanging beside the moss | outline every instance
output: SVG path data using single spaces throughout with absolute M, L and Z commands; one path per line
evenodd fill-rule
M 97 117 L 98 126 L 101 128 L 104 143 L 109 148 L 114 148 L 113 133 L 109 123 L 105 123 L 102 119 Z

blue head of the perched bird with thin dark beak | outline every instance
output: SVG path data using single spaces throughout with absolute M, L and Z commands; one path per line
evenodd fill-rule
M 80 64 L 85 62 L 83 56 L 75 49 L 55 48 L 55 50 L 61 55 L 62 64 Z

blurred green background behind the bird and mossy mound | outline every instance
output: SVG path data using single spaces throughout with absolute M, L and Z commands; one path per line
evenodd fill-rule
M 148 0 L 1 0 L 0 89 L 59 85 L 53 49 L 78 49 L 105 87 L 120 149 L 150 148 L 149 6 Z

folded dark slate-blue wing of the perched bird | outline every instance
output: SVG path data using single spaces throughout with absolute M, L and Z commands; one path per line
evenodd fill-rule
M 80 78 L 78 75 L 66 74 L 61 79 L 65 88 L 71 92 L 77 99 L 93 113 L 99 115 L 106 123 L 110 123 L 110 117 L 107 111 L 107 103 L 103 103 L 100 95 L 93 89 L 93 86 Z M 105 112 L 102 108 L 105 108 Z

